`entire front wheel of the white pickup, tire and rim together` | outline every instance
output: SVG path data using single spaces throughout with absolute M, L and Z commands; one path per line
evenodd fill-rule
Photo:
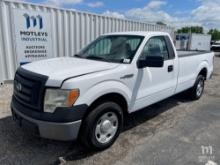
M 115 142 L 122 125 L 121 107 L 114 102 L 102 103 L 94 108 L 83 122 L 80 140 L 88 148 L 106 149 Z

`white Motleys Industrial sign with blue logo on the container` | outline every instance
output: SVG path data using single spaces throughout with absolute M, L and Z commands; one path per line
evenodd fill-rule
M 50 14 L 21 9 L 13 13 L 18 64 L 51 58 Z

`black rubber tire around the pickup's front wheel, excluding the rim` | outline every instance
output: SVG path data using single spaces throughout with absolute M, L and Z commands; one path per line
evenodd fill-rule
M 96 128 L 100 118 L 107 113 L 113 113 L 114 116 L 117 116 L 118 128 L 116 133 L 114 133 L 114 136 L 112 136 L 111 140 L 109 140 L 107 143 L 100 143 L 97 140 L 97 135 L 95 134 Z M 104 102 L 96 106 L 96 108 L 94 108 L 85 118 L 85 120 L 83 121 L 79 138 L 82 144 L 89 149 L 104 150 L 110 147 L 115 142 L 115 140 L 117 139 L 117 137 L 119 136 L 122 130 L 122 127 L 123 127 L 122 108 L 114 102 Z

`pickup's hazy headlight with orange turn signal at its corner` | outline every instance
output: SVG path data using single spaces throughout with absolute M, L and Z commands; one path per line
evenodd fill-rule
M 44 112 L 53 113 L 57 107 L 71 107 L 78 97 L 78 89 L 47 89 L 44 98 Z

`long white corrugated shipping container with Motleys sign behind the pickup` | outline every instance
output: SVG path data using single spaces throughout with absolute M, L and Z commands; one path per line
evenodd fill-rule
M 52 6 L 0 0 L 0 82 L 27 62 L 72 56 L 103 33 L 165 31 L 168 26 Z

